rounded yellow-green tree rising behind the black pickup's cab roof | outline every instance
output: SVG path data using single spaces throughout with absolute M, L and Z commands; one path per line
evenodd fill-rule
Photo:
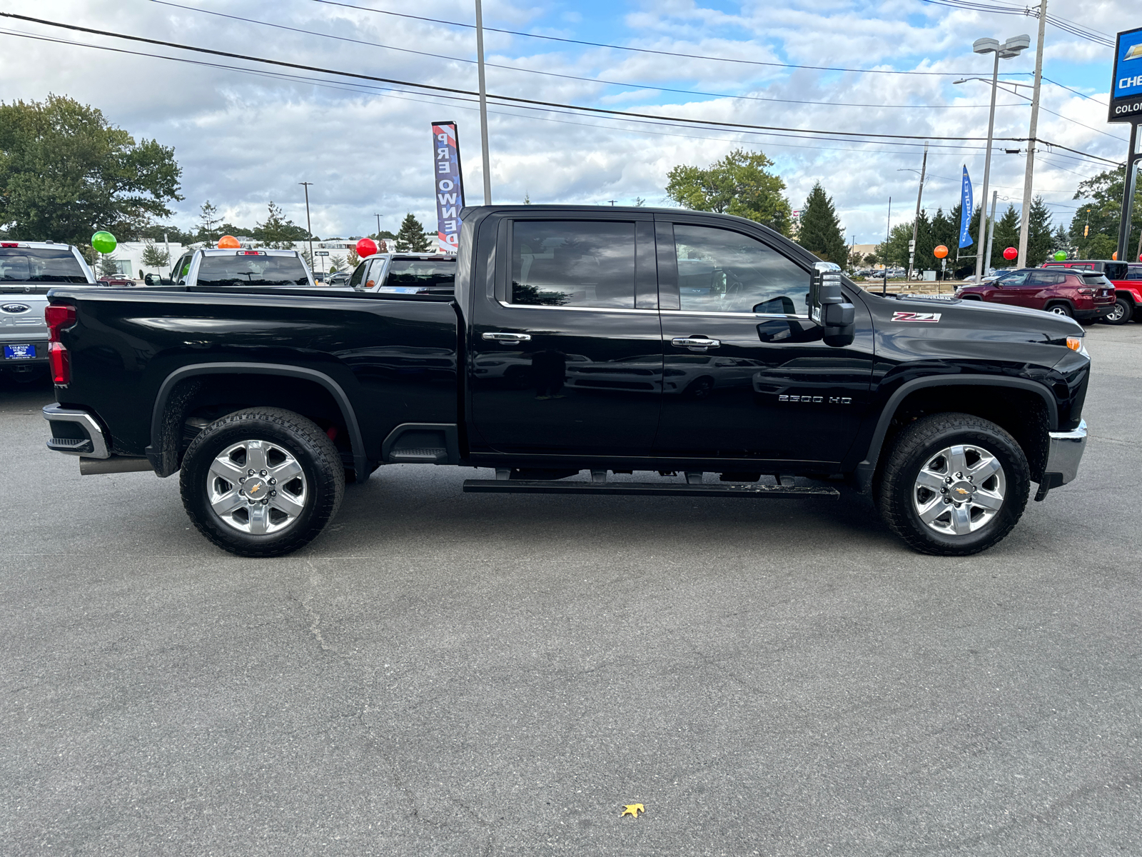
M 709 167 L 671 169 L 666 195 L 683 208 L 748 217 L 788 235 L 793 211 L 782 195 L 785 182 L 766 171 L 772 166 L 762 152 L 735 149 Z

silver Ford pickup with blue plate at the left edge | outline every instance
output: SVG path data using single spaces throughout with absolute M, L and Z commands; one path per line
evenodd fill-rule
M 0 241 L 0 374 L 30 382 L 48 367 L 43 307 L 56 286 L 95 286 L 95 274 L 71 245 Z

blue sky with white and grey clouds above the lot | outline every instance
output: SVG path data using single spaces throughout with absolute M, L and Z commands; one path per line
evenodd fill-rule
M 986 6 L 1022 9 L 1010 2 L 989 0 Z M 7 0 L 0 10 L 323 70 L 476 88 L 472 3 L 345 3 L 359 8 L 328 0 Z M 1028 33 L 1032 49 L 1002 61 L 1000 70 L 1003 79 L 1030 82 L 1037 22 L 960 8 L 965 5 L 982 3 L 485 0 L 485 27 L 521 33 L 486 33 L 488 90 L 706 121 L 982 137 L 990 86 L 952 81 L 990 75 L 991 58 L 972 53 L 975 39 L 1003 41 Z M 1142 26 L 1136 0 L 1051 0 L 1048 13 L 1111 38 L 1118 30 Z M 263 219 L 266 202 L 274 200 L 304 224 L 301 181 L 313 182 L 309 199 L 319 235 L 371 232 L 376 214 L 383 229 L 395 230 L 407 211 L 433 227 L 433 120 L 459 123 L 468 201 L 482 201 L 478 112 L 464 97 L 329 73 L 275 71 L 10 18 L 0 19 L 0 27 L 6 48 L 0 51 L 0 98 L 69 95 L 98 106 L 136 138 L 174 146 L 186 199 L 176 205 L 172 221 L 184 227 L 196 222 L 207 199 L 235 223 Z M 17 32 L 78 43 L 11 34 Z M 1112 49 L 1048 25 L 1044 55 L 1044 75 L 1055 82 L 1044 83 L 1038 136 L 1086 154 L 1124 159 L 1127 127 L 1105 121 Z M 1026 137 L 1028 102 L 1000 93 L 998 104 L 996 135 Z M 918 176 L 909 170 L 919 169 L 923 149 L 917 141 L 746 134 L 502 104 L 490 107 L 489 136 L 494 202 L 520 202 L 526 194 L 532 202 L 627 205 L 643 198 L 648 205 L 669 205 L 666 175 L 675 165 L 706 165 L 738 146 L 761 150 L 786 181 L 794 208 L 820 181 L 835 198 L 850 240 L 858 243 L 883 239 L 890 197 L 892 222 L 911 219 Z M 992 184 L 1000 207 L 1022 199 L 1024 157 L 1003 153 L 1016 145 L 999 143 L 995 150 Z M 932 141 L 925 208 L 956 203 L 965 163 L 978 186 L 982 143 Z M 1056 222 L 1068 222 L 1078 205 L 1071 200 L 1077 183 L 1107 166 L 1057 149 L 1040 150 L 1036 192 L 1052 203 Z

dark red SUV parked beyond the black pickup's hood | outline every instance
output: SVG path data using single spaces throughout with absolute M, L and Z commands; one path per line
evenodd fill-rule
M 1116 306 L 1115 287 L 1096 271 L 1021 267 L 991 282 L 964 286 L 956 297 L 1046 310 L 1079 321 L 1107 318 Z

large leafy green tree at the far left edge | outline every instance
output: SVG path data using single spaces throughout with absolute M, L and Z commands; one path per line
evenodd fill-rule
M 49 95 L 0 102 L 0 230 L 80 245 L 97 229 L 134 235 L 174 214 L 175 150 L 138 143 L 90 105 Z

